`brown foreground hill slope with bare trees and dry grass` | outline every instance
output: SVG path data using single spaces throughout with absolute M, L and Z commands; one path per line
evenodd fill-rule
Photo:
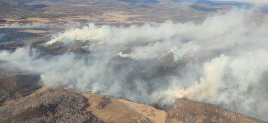
M 11 115 L 10 115 L 11 114 Z M 265 123 L 213 106 L 178 100 L 167 110 L 97 94 L 43 87 L 0 107 L 1 123 Z

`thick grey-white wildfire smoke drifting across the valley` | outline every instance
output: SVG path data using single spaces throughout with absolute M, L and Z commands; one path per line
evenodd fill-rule
M 40 74 L 50 87 L 110 94 L 152 104 L 209 102 L 268 121 L 268 18 L 233 9 L 202 23 L 90 24 L 44 46 L 87 42 L 89 56 L 44 59 L 38 50 L 1 51 L 1 66 Z

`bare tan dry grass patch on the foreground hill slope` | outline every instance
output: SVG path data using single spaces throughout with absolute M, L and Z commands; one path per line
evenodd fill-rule
M 163 110 L 157 110 L 152 106 L 137 104 L 123 99 L 112 99 L 112 103 L 103 109 L 96 106 L 102 100 L 103 95 L 82 93 L 90 104 L 86 108 L 95 116 L 104 122 L 126 123 L 133 122 L 139 118 L 148 118 L 153 123 L 165 123 L 166 113 Z

